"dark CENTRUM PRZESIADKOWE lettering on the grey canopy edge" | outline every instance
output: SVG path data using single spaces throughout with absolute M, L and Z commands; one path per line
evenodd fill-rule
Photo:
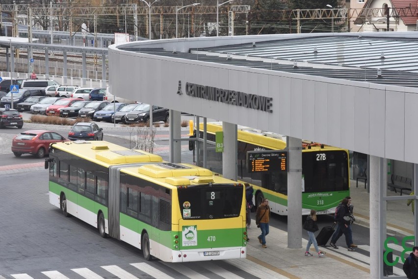
M 216 88 L 190 82 L 186 82 L 185 89 L 187 96 L 273 112 L 271 109 L 273 98 L 271 97 L 248 94 L 235 90 Z

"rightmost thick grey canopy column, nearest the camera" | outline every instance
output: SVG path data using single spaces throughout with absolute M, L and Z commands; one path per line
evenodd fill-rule
M 383 278 L 386 238 L 386 160 L 370 156 L 370 278 Z

